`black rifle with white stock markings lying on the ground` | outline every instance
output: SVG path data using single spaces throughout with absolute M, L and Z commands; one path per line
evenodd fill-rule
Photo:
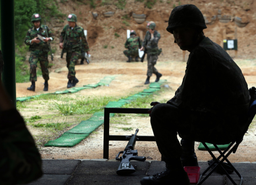
M 126 138 L 130 138 L 128 144 L 126 145 L 124 151 L 119 152 L 115 157 L 115 160 L 121 161 L 117 169 L 118 175 L 127 175 L 137 171 L 137 166 L 135 166 L 134 168 L 130 163 L 130 160 L 136 160 L 136 161 L 146 160 L 146 157 L 138 156 L 138 151 L 134 150 L 138 132 L 139 132 L 139 129 L 136 129 L 135 134 L 132 134 L 132 136 L 126 136 Z M 120 154 L 122 154 L 122 156 L 119 158 Z

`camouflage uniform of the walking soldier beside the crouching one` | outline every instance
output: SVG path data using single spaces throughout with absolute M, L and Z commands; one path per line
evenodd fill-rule
M 160 37 L 160 33 L 158 33 L 158 31 L 156 30 L 154 31 L 153 38 L 151 38 L 151 34 L 149 31 L 147 31 L 145 35 L 142 46 L 147 48 L 147 76 L 152 76 L 152 73 L 158 74 L 158 70 L 154 67 L 154 65 L 156 65 L 156 61 L 158 59 L 158 41 Z

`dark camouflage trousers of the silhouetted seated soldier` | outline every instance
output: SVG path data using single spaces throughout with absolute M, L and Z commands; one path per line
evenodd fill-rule
M 244 108 L 234 113 L 191 111 L 160 103 L 153 107 L 150 122 L 158 149 L 171 165 L 182 154 L 177 132 L 185 140 L 227 144 L 245 130 L 247 111 Z

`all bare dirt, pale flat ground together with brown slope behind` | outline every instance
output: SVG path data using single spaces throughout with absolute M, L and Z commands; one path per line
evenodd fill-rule
M 101 1 L 96 1 L 100 4 Z M 163 54 L 159 56 L 156 68 L 163 74 L 161 79 L 166 79 L 169 87 L 163 87 L 167 90 L 157 96 L 160 101 L 169 100 L 176 89 L 180 86 L 182 78 L 185 74 L 186 62 L 183 62 L 182 51 L 173 43 L 173 36 L 165 30 L 168 25 L 168 18 L 173 9 L 173 4 L 189 4 L 190 1 L 180 0 L 169 1 L 163 0 L 163 3 L 157 2 L 152 9 L 148 9 L 141 2 L 134 0 L 127 0 L 126 6 L 123 10 L 117 9 L 114 5 L 107 4 L 104 6 L 96 6 L 91 9 L 89 5 L 77 4 L 75 1 L 67 1 L 66 3 L 59 3 L 59 9 L 62 13 L 75 13 L 78 16 L 78 25 L 87 29 L 87 40 L 90 47 L 92 62 L 87 65 L 76 65 L 76 77 L 80 80 L 78 87 L 90 83 L 98 83 L 100 79 L 109 75 L 116 75 L 109 86 L 100 86 L 95 89 L 85 89 L 78 93 L 72 94 L 76 97 L 79 95 L 89 96 L 116 96 L 123 97 L 143 91 L 147 88 L 144 85 L 147 72 L 147 63 L 132 62 L 126 63 L 126 57 L 122 54 L 124 51 L 124 43 L 126 41 L 126 30 L 134 29 L 142 38 L 147 29 L 145 29 L 147 21 L 153 20 L 156 22 L 156 29 L 161 34 L 159 47 L 163 49 Z M 217 15 L 221 10 L 221 15 L 230 15 L 232 19 L 228 23 L 221 23 L 218 20 L 207 24 L 208 29 L 204 31 L 205 35 L 211 38 L 217 44 L 222 45 L 223 30 L 226 29 L 227 34 L 234 34 L 236 24 L 234 17 L 239 16 L 243 22 L 248 24 L 245 27 L 237 27 L 238 51 L 235 56 L 234 51 L 228 51 L 230 56 L 234 57 L 235 62 L 241 67 L 243 74 L 247 80 L 248 86 L 252 87 L 256 84 L 256 2 L 254 0 L 247 1 L 230 1 L 223 0 L 221 3 L 218 0 L 193 0 L 193 4 L 197 5 L 202 13 L 210 20 L 212 16 Z M 169 7 L 169 8 L 168 8 Z M 112 17 L 104 17 L 103 13 L 107 11 L 114 11 Z M 93 18 L 92 12 L 97 12 L 98 17 Z M 132 18 L 132 13 L 147 15 L 143 24 L 137 24 Z M 124 19 L 128 15 L 129 19 Z M 129 23 L 124 24 L 124 20 Z M 54 53 L 54 61 L 50 61 L 54 65 L 50 69 L 49 91 L 47 93 L 54 93 L 55 91 L 64 90 L 67 87 L 67 68 L 65 62 L 65 54 L 63 59 L 60 58 L 59 33 L 66 22 L 61 22 L 56 19 L 48 24 L 55 34 L 55 40 L 52 43 L 52 48 L 56 49 Z M 119 36 L 116 36 L 117 33 Z M 107 47 L 104 47 L 107 46 Z M 185 60 L 188 57 L 186 52 Z M 29 56 L 29 53 L 27 54 Z M 50 58 L 49 58 L 50 59 Z M 153 82 L 155 77 L 150 80 Z M 38 77 L 36 82 L 35 92 L 26 90 L 30 83 L 17 83 L 17 97 L 33 96 L 43 92 L 43 78 Z M 149 102 L 150 103 L 150 102 Z M 22 116 L 30 117 L 35 112 L 40 114 L 47 114 L 44 110 L 30 110 L 28 112 L 21 112 Z M 131 126 L 130 126 L 131 125 Z M 139 135 L 153 135 L 148 118 L 130 118 L 129 127 L 139 128 Z M 112 127 L 113 126 L 113 127 Z M 110 134 L 130 135 L 133 131 L 121 131 L 114 128 L 112 125 Z M 33 135 L 33 130 L 30 129 Z M 236 154 L 229 157 L 230 161 L 256 161 L 255 153 L 255 125 L 249 129 L 243 143 L 239 146 Z M 124 141 L 110 141 L 109 143 L 109 159 L 114 159 L 119 151 L 122 151 L 126 146 Z M 196 143 L 196 148 L 199 143 Z M 155 142 L 140 142 L 137 141 L 136 149 L 139 155 L 146 156 L 148 160 L 161 160 Z M 88 138 L 80 142 L 72 148 L 59 147 L 42 147 L 39 149 L 42 158 L 48 159 L 95 159 L 103 158 L 103 126 L 99 127 L 95 134 L 91 134 Z M 198 160 L 210 160 L 210 155 L 204 151 L 196 151 Z

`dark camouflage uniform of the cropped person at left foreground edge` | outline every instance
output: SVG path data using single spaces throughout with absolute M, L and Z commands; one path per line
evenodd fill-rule
M 0 184 L 24 184 L 42 176 L 41 157 L 16 109 L 0 112 Z

